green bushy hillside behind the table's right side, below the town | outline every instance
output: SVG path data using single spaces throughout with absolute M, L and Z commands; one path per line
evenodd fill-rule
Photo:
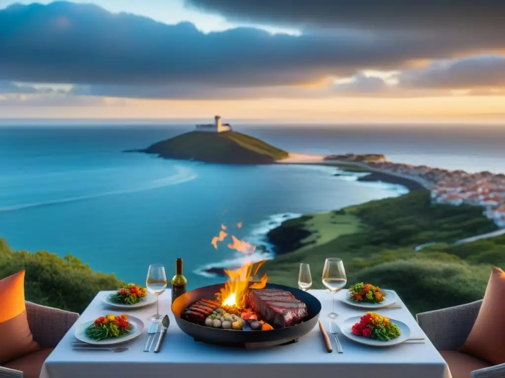
M 296 286 L 299 263 L 308 263 L 313 288 L 323 288 L 325 259 L 339 257 L 349 284 L 394 289 L 421 312 L 482 298 L 491 266 L 505 264 L 505 236 L 451 243 L 495 229 L 479 207 L 432 205 L 427 191 L 414 191 L 284 222 L 269 234 L 279 255 L 264 270 L 269 282 Z M 430 241 L 440 244 L 414 250 Z

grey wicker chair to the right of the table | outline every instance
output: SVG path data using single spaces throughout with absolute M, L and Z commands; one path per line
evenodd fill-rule
M 473 357 L 461 353 L 462 357 L 460 360 L 458 360 L 458 358 L 449 359 L 447 358 L 447 354 L 451 353 L 452 356 L 458 357 L 459 353 L 457 351 L 463 346 L 470 334 L 473 324 L 477 319 L 481 304 L 482 300 L 478 300 L 459 306 L 418 313 L 416 316 L 419 326 L 426 336 L 428 336 L 435 348 L 440 351 L 440 354 L 449 365 L 449 369 L 458 370 L 458 374 L 451 371 L 453 378 L 459 378 L 459 376 L 463 376 L 464 374 L 466 375 L 466 373 L 462 373 L 462 369 L 465 369 L 465 366 L 463 366 L 464 364 L 461 362 L 463 362 L 466 357 L 472 359 Z M 474 360 L 479 361 L 477 359 Z M 487 365 L 488 367 L 482 367 L 476 370 L 469 369 L 468 375 L 466 375 L 468 378 L 505 377 L 505 363 L 489 366 L 489 364 L 484 361 L 480 362 L 483 366 Z

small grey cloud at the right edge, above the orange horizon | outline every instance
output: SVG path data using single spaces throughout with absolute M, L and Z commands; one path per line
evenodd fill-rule
M 436 62 L 398 76 L 405 88 L 479 88 L 505 86 L 505 55 L 478 55 Z

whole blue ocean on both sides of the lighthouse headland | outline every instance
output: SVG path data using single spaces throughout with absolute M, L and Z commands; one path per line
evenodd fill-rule
M 175 259 L 182 257 L 191 289 L 222 281 L 205 274 L 206 267 L 240 259 L 223 244 L 218 250 L 211 245 L 221 224 L 261 244 L 286 217 L 407 193 L 399 185 L 335 176 L 333 167 L 226 166 L 122 152 L 191 129 L 0 128 L 0 237 L 16 249 L 71 254 L 95 271 L 136 283 L 144 282 L 149 264 L 165 264 L 171 277 Z M 505 172 L 505 128 L 234 129 L 294 152 L 382 153 L 396 162 Z

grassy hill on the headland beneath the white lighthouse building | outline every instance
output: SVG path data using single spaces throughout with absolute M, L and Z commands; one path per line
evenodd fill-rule
M 166 158 L 229 164 L 268 164 L 288 157 L 286 151 L 231 131 L 185 133 L 155 143 L 145 152 Z

